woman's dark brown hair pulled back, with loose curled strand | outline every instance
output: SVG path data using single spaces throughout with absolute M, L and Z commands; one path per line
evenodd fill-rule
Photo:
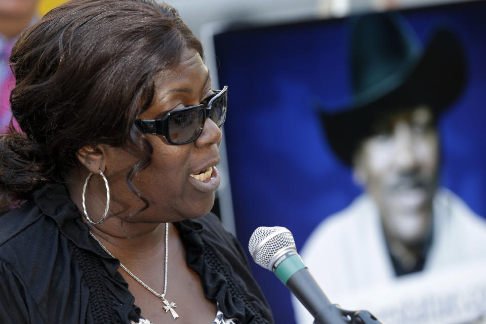
M 10 103 L 24 134 L 0 137 L 0 208 L 62 183 L 86 145 L 126 146 L 148 166 L 152 147 L 135 127 L 152 103 L 155 76 L 185 48 L 203 48 L 171 6 L 152 0 L 73 0 L 27 28 L 10 64 Z

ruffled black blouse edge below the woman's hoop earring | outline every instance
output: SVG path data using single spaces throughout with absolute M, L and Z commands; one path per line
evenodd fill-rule
M 42 212 L 53 218 L 70 242 L 72 255 L 83 272 L 90 290 L 89 307 L 95 323 L 118 324 L 138 322 L 140 308 L 128 284 L 117 271 L 118 259 L 108 255 L 89 234 L 88 226 L 72 203 L 64 186 L 46 184 L 34 195 L 35 203 Z

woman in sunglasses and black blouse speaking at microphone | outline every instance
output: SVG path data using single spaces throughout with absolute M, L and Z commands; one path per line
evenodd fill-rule
M 208 214 L 227 89 L 172 7 L 68 2 L 11 64 L 25 133 L 0 140 L 1 203 L 21 205 L 0 217 L 2 322 L 272 322 Z

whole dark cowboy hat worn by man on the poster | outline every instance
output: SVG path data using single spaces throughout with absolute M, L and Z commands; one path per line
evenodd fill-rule
M 448 108 L 464 87 L 466 60 L 448 29 L 436 29 L 422 50 L 398 14 L 373 14 L 352 26 L 351 73 L 353 104 L 320 112 L 331 148 L 347 165 L 377 117 L 419 104 L 435 116 Z

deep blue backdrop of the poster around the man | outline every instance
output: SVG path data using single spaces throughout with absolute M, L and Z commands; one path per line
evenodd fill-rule
M 484 217 L 486 3 L 401 13 L 422 44 L 439 25 L 449 26 L 462 38 L 468 84 L 439 121 L 441 185 Z M 299 251 L 320 221 L 361 192 L 350 169 L 331 152 L 315 113 L 318 105 L 332 110 L 352 102 L 348 22 L 239 28 L 214 38 L 219 84 L 229 87 L 224 132 L 236 234 L 244 247 L 256 227 L 285 226 Z M 293 323 L 287 288 L 271 272 L 250 263 L 275 323 Z

